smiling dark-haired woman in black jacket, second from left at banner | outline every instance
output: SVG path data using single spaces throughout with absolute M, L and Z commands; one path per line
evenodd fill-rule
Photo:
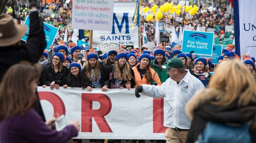
M 66 83 L 63 85 L 63 88 L 67 88 L 68 86 L 71 88 L 82 88 L 83 90 L 87 88 L 87 90 L 91 91 L 93 88 L 92 82 L 90 82 L 89 78 L 87 78 L 81 72 L 81 65 L 76 62 L 73 62 L 69 65 L 69 76 L 67 76 Z

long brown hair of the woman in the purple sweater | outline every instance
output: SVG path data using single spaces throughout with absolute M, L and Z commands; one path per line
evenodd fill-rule
M 10 67 L 0 84 L 0 121 L 36 106 L 36 93 L 31 82 L 38 79 L 38 69 L 31 65 L 16 64 Z

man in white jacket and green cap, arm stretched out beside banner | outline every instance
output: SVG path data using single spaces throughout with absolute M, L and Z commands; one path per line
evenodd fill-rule
M 204 89 L 204 85 L 185 69 L 179 58 L 171 58 L 161 67 L 167 69 L 170 78 L 160 86 L 137 86 L 135 96 L 140 97 L 139 92 L 141 92 L 153 98 L 166 97 L 168 102 L 167 118 L 164 121 L 166 142 L 185 143 L 190 129 L 190 120 L 185 113 L 185 106 L 195 92 Z

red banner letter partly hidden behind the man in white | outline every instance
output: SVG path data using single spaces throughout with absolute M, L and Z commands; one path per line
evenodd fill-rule
M 164 98 L 153 99 L 153 133 L 165 133 Z

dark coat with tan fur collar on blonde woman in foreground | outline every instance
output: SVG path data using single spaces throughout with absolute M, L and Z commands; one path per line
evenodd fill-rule
M 197 141 L 198 135 L 204 131 L 208 121 L 221 124 L 243 124 L 254 120 L 256 103 L 249 103 L 247 106 L 242 107 L 238 107 L 237 101 L 228 106 L 216 106 L 211 104 L 211 101 L 218 101 L 224 94 L 225 92 L 223 91 L 205 89 L 197 92 L 196 95 L 187 102 L 186 113 L 190 120 L 192 120 L 191 128 L 187 136 L 187 143 Z M 251 111 L 244 110 L 249 106 L 254 107 L 254 109 Z M 251 129 L 251 131 L 255 132 L 255 129 Z M 254 138 L 252 138 L 252 140 L 254 140 Z

